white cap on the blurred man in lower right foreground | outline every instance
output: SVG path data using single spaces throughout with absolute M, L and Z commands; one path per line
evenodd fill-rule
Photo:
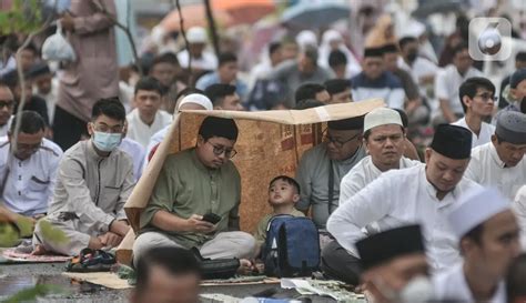
M 496 189 L 477 188 L 467 192 L 447 216 L 453 233 L 461 240 L 478 224 L 509 210 L 510 202 Z

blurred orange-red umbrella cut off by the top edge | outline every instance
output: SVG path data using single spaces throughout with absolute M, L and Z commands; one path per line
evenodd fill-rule
M 213 0 L 214 11 L 226 11 L 234 24 L 251 24 L 275 11 L 272 0 Z

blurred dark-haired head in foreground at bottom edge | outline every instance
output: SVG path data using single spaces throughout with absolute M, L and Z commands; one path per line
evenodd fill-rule
M 136 267 L 136 285 L 132 303 L 198 303 L 201 282 L 195 256 L 179 248 L 148 251 Z

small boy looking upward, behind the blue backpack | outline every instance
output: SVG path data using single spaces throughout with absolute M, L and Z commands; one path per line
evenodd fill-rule
M 300 184 L 296 180 L 279 175 L 272 179 L 269 185 L 269 203 L 273 212 L 265 215 L 257 224 L 257 230 L 254 233 L 256 248 L 261 250 L 266 239 L 266 228 L 274 215 L 290 214 L 293 216 L 305 216 L 302 212 L 294 209 L 294 204 L 300 201 Z M 259 254 L 259 253 L 257 253 Z

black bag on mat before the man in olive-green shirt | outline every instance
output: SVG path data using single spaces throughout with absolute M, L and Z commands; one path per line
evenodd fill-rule
M 203 280 L 229 279 L 240 267 L 239 259 L 204 259 L 196 248 L 192 248 L 192 252 L 200 262 Z

